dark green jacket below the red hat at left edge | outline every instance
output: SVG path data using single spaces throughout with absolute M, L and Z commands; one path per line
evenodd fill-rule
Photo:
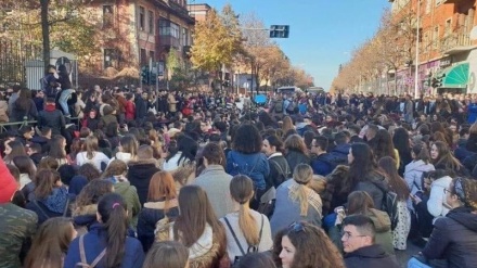
M 12 203 L 0 204 L 0 267 L 20 268 L 37 230 L 38 216 Z

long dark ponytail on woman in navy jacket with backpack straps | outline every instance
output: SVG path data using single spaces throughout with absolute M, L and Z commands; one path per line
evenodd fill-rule
M 118 193 L 106 193 L 98 203 L 98 213 L 106 228 L 106 267 L 120 267 L 128 230 L 127 205 Z

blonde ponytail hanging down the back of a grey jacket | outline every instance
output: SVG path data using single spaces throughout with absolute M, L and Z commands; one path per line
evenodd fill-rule
M 308 215 L 308 193 L 311 191 L 307 187 L 313 177 L 313 169 L 307 164 L 298 164 L 293 173 L 293 179 L 297 182 L 297 189 L 291 190 L 289 197 L 300 204 L 300 216 Z

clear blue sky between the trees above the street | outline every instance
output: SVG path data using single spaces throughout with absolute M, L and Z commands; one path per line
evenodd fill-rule
M 194 0 L 189 0 L 194 3 Z M 289 25 L 289 38 L 274 39 L 292 64 L 328 90 L 339 64 L 375 34 L 388 0 L 195 0 L 236 14 L 255 13 L 268 27 Z

